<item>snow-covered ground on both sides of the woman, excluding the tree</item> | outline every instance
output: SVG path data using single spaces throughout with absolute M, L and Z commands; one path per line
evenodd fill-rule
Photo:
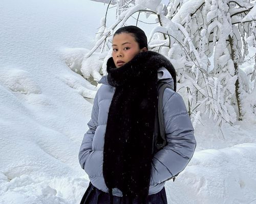
M 86 190 L 78 151 L 97 88 L 61 57 L 94 45 L 105 8 L 89 0 L 1 0 L 1 204 L 79 203 Z M 206 117 L 196 126 L 193 159 L 165 185 L 169 203 L 256 203 L 256 118 L 221 130 Z

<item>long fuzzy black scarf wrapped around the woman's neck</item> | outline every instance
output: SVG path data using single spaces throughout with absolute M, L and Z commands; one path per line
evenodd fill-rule
M 107 62 L 108 82 L 116 87 L 103 149 L 103 177 L 111 196 L 113 188 L 132 199 L 143 200 L 148 195 L 157 106 L 157 70 L 162 66 L 172 74 L 176 89 L 173 65 L 156 52 L 141 52 L 119 68 L 112 57 Z

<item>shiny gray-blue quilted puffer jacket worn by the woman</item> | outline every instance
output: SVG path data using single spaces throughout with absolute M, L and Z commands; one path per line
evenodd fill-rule
M 158 69 L 158 80 L 164 80 L 174 87 L 173 78 L 164 67 Z M 89 130 L 84 134 L 78 157 L 93 186 L 109 192 L 102 174 L 103 147 L 106 121 L 115 87 L 108 84 L 106 76 L 98 83 L 102 85 L 96 93 L 91 120 L 88 122 Z M 184 101 L 179 93 L 170 88 L 164 90 L 163 115 L 167 145 L 154 155 L 149 195 L 161 191 L 170 177 L 181 172 L 196 148 L 194 129 Z M 113 195 L 122 196 L 122 192 L 114 188 Z

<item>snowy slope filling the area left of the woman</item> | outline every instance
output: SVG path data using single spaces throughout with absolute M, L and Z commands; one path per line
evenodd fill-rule
M 92 105 L 82 91 L 96 88 L 61 49 L 93 45 L 98 25 L 89 22 L 101 16 L 91 6 L 0 2 L 0 203 L 75 203 L 88 184 L 78 150 Z

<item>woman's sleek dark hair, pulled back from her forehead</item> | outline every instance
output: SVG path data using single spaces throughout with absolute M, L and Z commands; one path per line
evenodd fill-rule
M 115 32 L 114 36 L 120 33 L 131 33 L 134 36 L 136 42 L 138 42 L 140 49 L 142 49 L 143 47 L 147 48 L 146 34 L 139 27 L 135 25 L 121 27 Z

